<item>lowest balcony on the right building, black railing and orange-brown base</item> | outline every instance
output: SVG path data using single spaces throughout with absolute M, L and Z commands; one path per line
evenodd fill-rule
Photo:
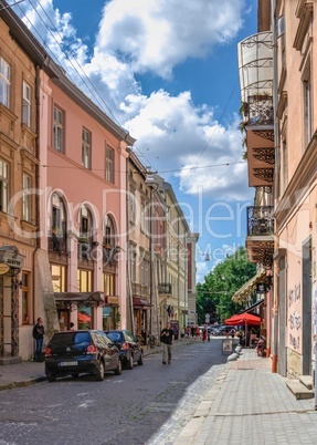
M 247 235 L 245 245 L 249 260 L 271 268 L 274 253 L 273 206 L 247 207 Z

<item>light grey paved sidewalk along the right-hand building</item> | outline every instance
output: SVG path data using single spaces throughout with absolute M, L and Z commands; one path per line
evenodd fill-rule
M 173 445 L 317 444 L 315 400 L 297 401 L 271 359 L 245 349 L 228 362 Z

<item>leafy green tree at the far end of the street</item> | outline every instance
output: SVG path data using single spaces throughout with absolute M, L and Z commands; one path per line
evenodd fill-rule
M 255 273 L 256 266 L 249 261 L 243 247 L 216 265 L 204 277 L 204 282 L 197 284 L 199 324 L 204 323 L 205 313 L 210 314 L 210 321 L 213 323 L 222 322 L 244 309 L 241 303 L 234 303 L 232 297 Z

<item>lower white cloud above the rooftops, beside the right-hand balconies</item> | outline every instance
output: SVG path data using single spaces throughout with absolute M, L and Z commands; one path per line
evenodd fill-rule
M 121 107 L 137 111 L 125 127 L 137 138 L 138 149 L 148 154 L 159 174 L 178 177 L 182 192 L 197 195 L 203 188 L 229 200 L 250 194 L 237 116 L 224 127 L 211 107 L 194 106 L 189 92 L 130 95 Z

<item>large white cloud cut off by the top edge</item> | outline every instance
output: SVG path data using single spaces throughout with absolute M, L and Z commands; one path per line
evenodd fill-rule
M 123 54 L 135 72 L 169 77 L 177 64 L 233 39 L 244 7 L 245 0 L 112 0 L 97 45 Z

